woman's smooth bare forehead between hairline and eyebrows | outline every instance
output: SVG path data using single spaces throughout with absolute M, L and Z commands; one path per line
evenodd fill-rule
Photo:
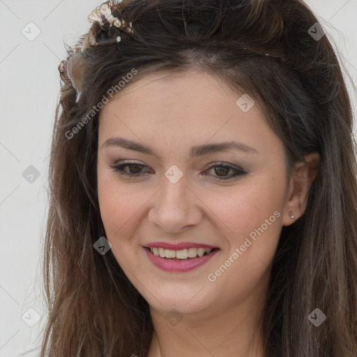
M 237 141 L 259 152 L 264 146 L 280 150 L 280 139 L 266 123 L 259 102 L 246 96 L 208 73 L 148 75 L 101 109 L 98 146 L 121 137 L 161 152 Z M 242 100 L 248 110 L 240 106 Z

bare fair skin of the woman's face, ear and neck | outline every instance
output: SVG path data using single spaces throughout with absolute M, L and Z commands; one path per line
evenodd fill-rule
M 257 100 L 248 112 L 236 105 L 241 94 L 195 70 L 153 73 L 119 92 L 100 112 L 100 214 L 116 260 L 149 303 L 155 329 L 149 357 L 263 356 L 259 317 L 280 231 L 305 211 L 315 174 L 298 163 L 287 178 L 281 140 Z M 149 146 L 155 155 L 103 146 L 112 137 Z M 190 158 L 192 146 L 231 141 L 257 152 L 230 150 Z M 312 153 L 305 159 L 317 164 L 319 157 Z M 142 176 L 114 172 L 110 166 L 123 160 L 144 165 L 124 168 Z M 208 167 L 211 162 L 218 167 Z M 234 174 L 223 168 L 220 172 L 221 162 L 247 174 L 216 181 Z M 172 165 L 183 174 L 176 183 L 165 176 Z M 275 222 L 209 281 L 208 274 L 276 211 L 280 216 Z M 153 241 L 206 243 L 220 250 L 192 271 L 169 273 L 146 257 L 143 246 Z M 165 317 L 172 309 L 181 319 L 176 325 Z

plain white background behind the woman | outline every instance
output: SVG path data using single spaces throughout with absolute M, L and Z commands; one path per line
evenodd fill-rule
M 97 0 L 0 0 L 0 357 L 20 356 L 40 345 L 45 322 L 42 242 L 47 163 L 60 88 L 57 67 L 66 57 L 63 43 L 74 45 L 88 31 L 86 16 L 99 4 Z M 357 83 L 357 0 L 307 4 L 342 52 L 342 61 Z M 40 29 L 32 41 L 22 34 L 22 29 L 33 26 L 29 22 Z M 350 85 L 349 90 L 356 108 L 356 93 Z M 30 165 L 40 173 L 33 183 L 22 176 Z M 24 322 L 36 322 L 36 312 L 30 308 L 42 317 L 33 327 Z

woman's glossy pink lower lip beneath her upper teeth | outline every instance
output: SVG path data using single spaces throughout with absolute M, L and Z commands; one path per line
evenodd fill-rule
M 186 271 L 192 271 L 192 269 L 195 269 L 198 266 L 202 266 L 203 264 L 205 264 L 218 252 L 218 249 L 215 249 L 208 255 L 180 261 L 156 257 L 156 255 L 151 253 L 149 249 L 144 248 L 144 250 L 151 263 L 160 268 L 162 271 L 169 271 L 171 273 L 183 273 Z

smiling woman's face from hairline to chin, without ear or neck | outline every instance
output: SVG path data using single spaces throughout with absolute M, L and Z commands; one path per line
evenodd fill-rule
M 100 112 L 98 200 L 106 237 L 155 310 L 217 314 L 261 296 L 268 281 L 287 167 L 259 103 L 243 111 L 241 95 L 206 73 L 153 74 Z M 176 258 L 155 257 L 149 246 L 174 248 L 167 254 Z M 207 246 L 207 255 L 181 259 Z

